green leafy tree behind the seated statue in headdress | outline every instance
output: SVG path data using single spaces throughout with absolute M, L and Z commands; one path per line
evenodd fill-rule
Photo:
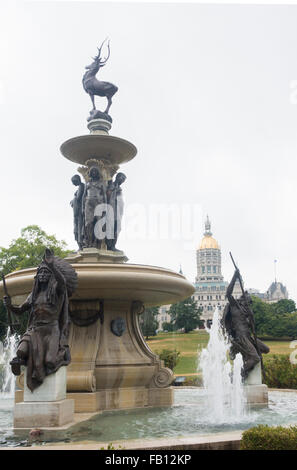
M 59 241 L 55 235 L 48 235 L 38 225 L 28 225 L 21 230 L 21 236 L 12 240 L 8 248 L 0 247 L 0 271 L 9 274 L 13 271 L 38 266 L 44 255 L 45 248 L 50 248 L 56 256 L 64 258 L 70 253 L 66 243 Z M 23 334 L 27 325 L 28 314 L 19 319 L 18 333 Z M 7 313 L 0 301 L 0 339 L 3 340 L 7 331 Z

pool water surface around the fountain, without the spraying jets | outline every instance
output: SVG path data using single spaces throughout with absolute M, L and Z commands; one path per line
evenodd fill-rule
M 297 423 L 297 391 L 270 391 L 268 407 L 246 408 L 240 419 L 214 422 L 209 401 L 202 388 L 176 388 L 172 407 L 104 411 L 63 431 L 45 431 L 44 442 L 115 442 L 127 439 L 151 439 L 205 435 L 244 430 L 258 424 Z M 243 417 L 242 417 L 243 416 Z M 0 400 L 0 446 L 27 444 L 28 431 L 13 425 L 13 400 Z

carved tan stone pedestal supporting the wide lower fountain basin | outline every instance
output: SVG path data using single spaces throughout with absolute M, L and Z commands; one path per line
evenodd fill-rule
M 94 306 L 71 301 L 80 322 L 88 318 L 89 303 Z M 172 405 L 173 374 L 143 340 L 142 311 L 140 302 L 105 300 L 103 318 L 86 327 L 72 324 L 67 396 L 76 412 Z

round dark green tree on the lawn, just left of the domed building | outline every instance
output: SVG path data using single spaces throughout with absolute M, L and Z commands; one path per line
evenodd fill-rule
M 189 333 L 202 324 L 200 320 L 201 310 L 198 308 L 197 302 L 193 297 L 182 300 L 177 304 L 172 304 L 169 314 L 175 329 L 183 329 L 185 333 Z

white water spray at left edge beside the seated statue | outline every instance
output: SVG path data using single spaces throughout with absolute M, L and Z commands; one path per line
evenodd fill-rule
M 15 377 L 9 363 L 16 354 L 18 339 L 8 328 L 4 342 L 0 342 L 0 398 L 14 398 Z

